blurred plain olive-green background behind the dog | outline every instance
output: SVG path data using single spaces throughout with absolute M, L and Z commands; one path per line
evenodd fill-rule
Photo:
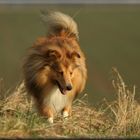
M 90 103 L 115 97 L 111 68 L 140 97 L 140 5 L 0 5 L 0 77 L 6 89 L 22 80 L 27 48 L 46 34 L 40 10 L 58 10 L 74 17 L 85 52 Z

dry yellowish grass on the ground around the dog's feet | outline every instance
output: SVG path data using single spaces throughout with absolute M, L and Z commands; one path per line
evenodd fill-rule
M 140 104 L 135 100 L 135 86 L 129 89 L 115 68 L 112 85 L 116 100 L 104 100 L 94 108 L 85 94 L 74 101 L 71 117 L 63 120 L 58 115 L 54 124 L 37 114 L 23 83 L 10 95 L 1 90 L 0 137 L 139 137 Z

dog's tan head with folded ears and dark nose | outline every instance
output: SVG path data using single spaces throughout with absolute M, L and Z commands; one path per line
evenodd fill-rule
M 80 67 L 80 54 L 66 49 L 49 49 L 46 53 L 51 68 L 52 81 L 58 85 L 62 94 L 66 94 L 74 88 L 73 77 L 75 69 Z

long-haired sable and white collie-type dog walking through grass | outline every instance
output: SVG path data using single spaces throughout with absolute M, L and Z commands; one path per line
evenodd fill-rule
M 60 12 L 44 14 L 42 19 L 48 33 L 29 48 L 23 73 L 40 114 L 53 123 L 58 112 L 71 115 L 72 102 L 85 87 L 87 69 L 76 22 Z

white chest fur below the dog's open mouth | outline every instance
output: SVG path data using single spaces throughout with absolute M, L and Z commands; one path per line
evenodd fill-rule
M 68 103 L 68 96 L 63 95 L 58 86 L 54 86 L 49 93 L 47 93 L 44 104 L 51 107 L 55 113 L 62 111 Z

